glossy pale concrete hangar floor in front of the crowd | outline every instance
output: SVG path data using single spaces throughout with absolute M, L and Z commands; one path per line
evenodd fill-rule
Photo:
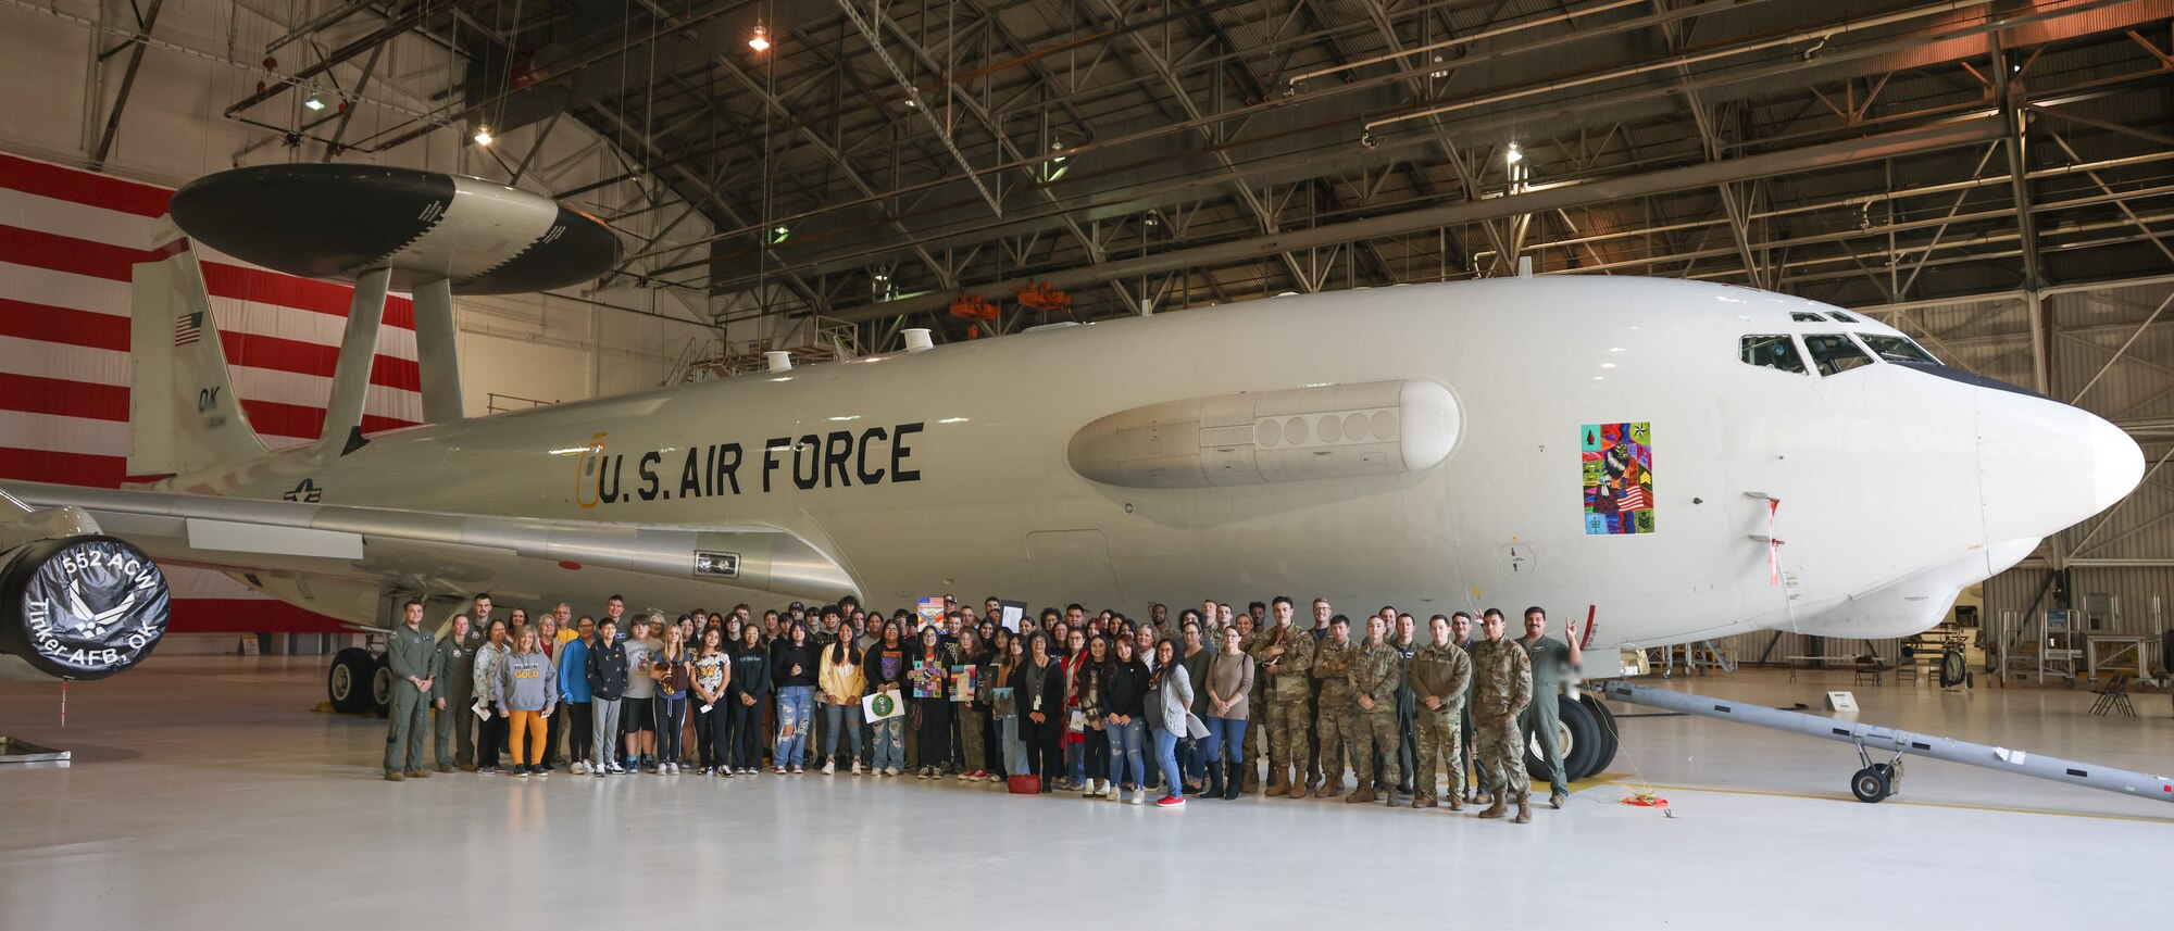
M 159 657 L 74 685 L 67 729 L 54 683 L 0 683 L 0 731 L 76 750 L 72 766 L 0 768 L 0 929 L 837 927 L 915 911 L 1035 929 L 2044 929 L 2094 914 L 2152 924 L 2174 851 L 2174 805 L 1937 761 L 1911 764 L 1902 796 L 1861 805 L 1846 792 L 1848 746 L 1630 707 L 1617 707 L 1613 781 L 1541 807 L 1530 827 L 1280 798 L 1157 811 L 820 774 L 385 783 L 385 724 L 311 711 L 322 681 L 307 657 Z M 1817 705 L 1848 676 L 1674 687 Z M 2174 770 L 2165 696 L 2141 696 L 2141 718 L 2089 718 L 2089 696 L 2065 690 L 1857 696 L 1870 722 Z M 1637 779 L 1674 818 L 1620 805 L 1617 783 Z M 1035 918 L 1024 903 L 1041 903 Z

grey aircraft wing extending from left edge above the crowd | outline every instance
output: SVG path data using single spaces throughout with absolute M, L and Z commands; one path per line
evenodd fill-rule
M 589 605 L 626 592 L 630 607 L 674 613 L 761 596 L 826 603 L 854 592 L 837 561 L 770 526 L 598 524 L 13 481 L 0 487 L 33 505 L 76 505 L 104 533 L 161 563 L 222 570 L 354 622 L 383 622 L 383 592 Z

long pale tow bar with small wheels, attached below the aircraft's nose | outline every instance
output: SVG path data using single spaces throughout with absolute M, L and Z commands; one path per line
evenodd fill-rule
M 1972 744 L 1954 737 L 1933 737 L 1926 733 L 1896 731 L 1891 727 L 1859 724 L 1854 720 L 1822 718 L 1802 711 L 1783 711 L 1763 705 L 1733 703 L 1670 692 L 1648 685 L 1604 683 L 1600 692 L 1630 705 L 1657 707 L 1663 711 L 1696 713 L 1700 718 L 1733 720 L 1739 724 L 1794 731 L 1807 737 L 1824 737 L 1857 746 L 1857 759 L 1865 764 L 1850 777 L 1850 794 L 1861 803 L 1876 803 L 1896 794 L 1902 781 L 1902 757 L 1920 755 L 1946 759 L 1950 764 L 1981 766 L 1994 772 L 2052 779 L 2070 785 L 2120 792 L 2137 798 L 2174 803 L 2174 781 L 2111 766 L 2078 764 L 2074 759 L 2046 757 L 2039 753 L 2011 750 L 2004 746 Z M 1894 759 L 1874 764 L 1872 753 L 1894 750 Z

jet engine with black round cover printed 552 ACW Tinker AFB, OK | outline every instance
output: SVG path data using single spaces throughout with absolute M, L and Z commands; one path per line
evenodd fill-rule
M 104 679 L 165 635 L 172 592 L 159 563 L 74 507 L 0 524 L 0 674 Z

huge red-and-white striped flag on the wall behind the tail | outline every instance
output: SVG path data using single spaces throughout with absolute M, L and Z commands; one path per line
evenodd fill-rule
M 0 154 L 0 479 L 117 487 L 128 461 L 128 276 L 174 191 Z M 326 218 L 337 222 L 337 218 Z M 265 444 L 317 437 L 350 287 L 196 246 L 235 394 Z M 415 311 L 378 331 L 363 431 L 422 420 Z M 339 631 L 217 572 L 172 568 L 174 633 Z

